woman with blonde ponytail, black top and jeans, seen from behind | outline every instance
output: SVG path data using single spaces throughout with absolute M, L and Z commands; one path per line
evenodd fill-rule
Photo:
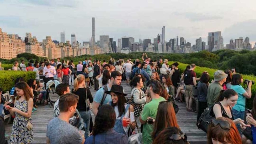
M 90 103 L 93 102 L 92 94 L 89 88 L 86 87 L 84 75 L 79 74 L 74 80 L 74 89 L 72 90 L 73 94 L 79 96 L 79 101 L 77 103 L 77 110 L 79 111 L 81 118 L 83 118 L 86 130 L 85 138 L 89 137 L 89 128 L 90 128 Z

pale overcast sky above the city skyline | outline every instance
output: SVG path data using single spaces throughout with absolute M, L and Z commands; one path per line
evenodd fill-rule
M 202 37 L 207 44 L 208 32 L 215 31 L 222 32 L 224 44 L 246 36 L 256 41 L 255 0 L 0 0 L 0 27 L 23 39 L 31 32 L 39 41 L 60 41 L 65 30 L 66 40 L 75 33 L 79 42 L 89 41 L 92 17 L 96 40 L 129 36 L 153 43 L 165 26 L 166 41 L 179 36 L 195 44 Z

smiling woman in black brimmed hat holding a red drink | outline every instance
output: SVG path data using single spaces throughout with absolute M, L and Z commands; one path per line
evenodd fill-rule
M 133 106 L 125 104 L 124 96 L 127 94 L 124 94 L 123 87 L 120 85 L 113 85 L 111 90 L 105 93 L 111 95 L 112 101 L 110 105 L 114 108 L 116 114 L 114 130 L 127 135 L 127 126 L 130 125 L 132 129 L 135 129 L 136 126 Z M 125 121 L 126 124 L 124 123 Z

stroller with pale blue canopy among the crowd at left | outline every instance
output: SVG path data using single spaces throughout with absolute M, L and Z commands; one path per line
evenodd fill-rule
M 55 88 L 60 84 L 58 80 L 49 80 L 46 83 L 46 91 L 49 93 L 49 101 L 50 108 L 54 107 L 54 103 L 60 98 L 58 94 L 56 94 Z

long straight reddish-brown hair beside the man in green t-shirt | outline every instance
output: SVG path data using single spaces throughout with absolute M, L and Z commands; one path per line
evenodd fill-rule
M 157 137 L 159 132 L 167 127 L 179 128 L 179 125 L 177 123 L 173 103 L 169 101 L 162 101 L 159 102 L 158 105 L 156 120 L 154 122 L 154 128 L 152 133 L 153 139 Z

